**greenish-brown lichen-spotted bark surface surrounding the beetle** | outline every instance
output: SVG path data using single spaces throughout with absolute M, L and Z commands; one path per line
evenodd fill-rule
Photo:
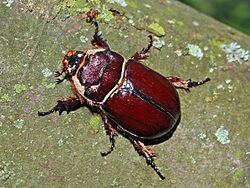
M 229 63 L 221 48 L 237 42 L 250 49 L 249 36 L 172 0 L 126 0 L 126 6 L 123 1 L 84 1 L 70 8 L 62 1 L 4 2 L 1 187 L 250 186 L 249 59 Z M 152 34 L 158 36 L 155 48 L 143 63 L 166 76 L 212 80 L 191 93 L 179 91 L 182 121 L 169 141 L 154 146 L 165 181 L 121 136 L 115 151 L 102 158 L 109 141 L 101 120 L 87 109 L 37 116 L 38 110 L 72 95 L 68 83 L 54 84 L 52 72 L 67 50 L 91 47 L 94 28 L 76 10 L 93 5 L 106 13 L 100 15 L 100 29 L 113 50 L 129 58 Z M 109 8 L 125 15 L 113 17 Z

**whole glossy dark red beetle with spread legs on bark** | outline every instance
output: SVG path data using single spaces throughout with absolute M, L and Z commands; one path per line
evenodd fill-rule
M 61 115 L 64 111 L 69 113 L 87 107 L 101 116 L 109 136 L 111 146 L 101 152 L 102 156 L 113 151 L 115 137 L 120 133 L 159 177 L 165 179 L 154 162 L 155 151 L 148 146 L 171 138 L 180 123 L 180 99 L 176 89 L 189 92 L 190 88 L 210 79 L 196 82 L 177 76 L 165 77 L 141 64 L 152 47 L 151 35 L 148 46 L 129 59 L 112 51 L 99 33 L 97 13 L 91 10 L 87 14 L 87 22 L 95 26 L 91 41 L 94 48 L 68 51 L 62 60 L 62 70 L 55 71 L 57 84 L 68 80 L 74 96 L 58 100 L 52 109 L 38 112 L 38 115 L 53 112 Z

